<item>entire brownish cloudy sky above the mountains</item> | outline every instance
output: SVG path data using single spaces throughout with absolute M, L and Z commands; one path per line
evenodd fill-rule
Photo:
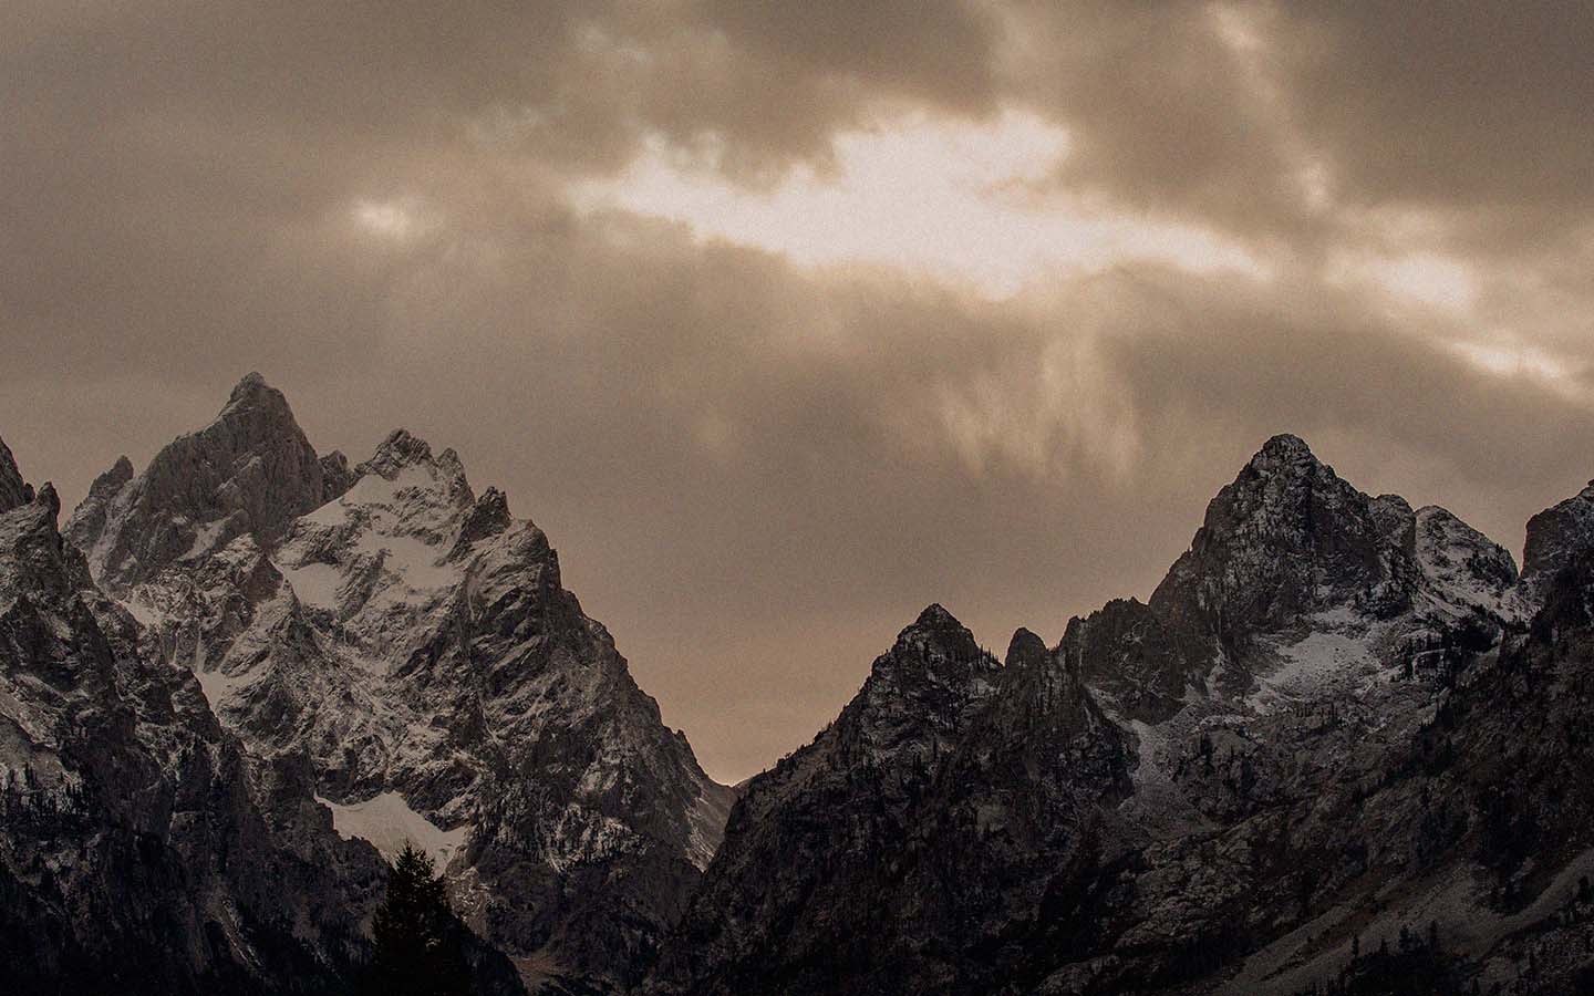
M 929 601 L 1144 598 L 1275 432 L 1514 551 L 1594 476 L 1594 6 L 8 0 L 0 437 L 260 370 L 559 548 L 705 767 Z

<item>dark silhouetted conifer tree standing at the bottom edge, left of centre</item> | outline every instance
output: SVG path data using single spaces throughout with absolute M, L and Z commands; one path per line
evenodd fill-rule
M 376 951 L 365 991 L 373 996 L 469 996 L 470 971 L 461 927 L 448 908 L 443 878 L 432 859 L 405 843 L 387 899 L 371 918 Z

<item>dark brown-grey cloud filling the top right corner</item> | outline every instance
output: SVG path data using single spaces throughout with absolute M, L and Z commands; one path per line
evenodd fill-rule
M 1299 126 L 1347 199 L 1465 212 L 1530 236 L 1586 225 L 1594 8 L 1286 3 Z M 1572 212 L 1570 215 L 1565 212 Z

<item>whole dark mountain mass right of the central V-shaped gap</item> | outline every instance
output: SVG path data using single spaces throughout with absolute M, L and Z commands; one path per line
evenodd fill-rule
M 746 786 L 644 990 L 1588 990 L 1591 499 L 1519 580 L 1275 437 L 1149 602 L 894 679 L 926 612 Z

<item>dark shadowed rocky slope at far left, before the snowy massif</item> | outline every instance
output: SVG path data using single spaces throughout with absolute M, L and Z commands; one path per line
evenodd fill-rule
M 0 475 L 14 475 L 3 446 Z M 5 991 L 347 988 L 381 891 L 376 853 L 333 833 L 308 768 L 252 767 L 193 676 L 139 652 L 135 622 L 57 532 L 49 484 L 6 494 Z

